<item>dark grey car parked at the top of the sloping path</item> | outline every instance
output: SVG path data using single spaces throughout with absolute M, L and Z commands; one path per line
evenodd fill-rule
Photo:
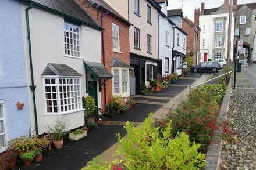
M 201 69 L 202 69 L 202 71 L 216 72 L 218 70 L 221 70 L 221 64 L 217 61 L 202 62 L 199 65 L 191 67 L 190 69 L 194 73 L 197 73 L 198 71 L 201 71 Z

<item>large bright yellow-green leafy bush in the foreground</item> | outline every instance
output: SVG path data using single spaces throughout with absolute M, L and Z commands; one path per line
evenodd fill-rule
M 199 144 L 190 143 L 185 133 L 179 133 L 176 138 L 170 138 L 171 122 L 163 129 L 161 137 L 158 129 L 151 124 L 152 113 L 136 128 L 126 122 L 126 138 L 118 134 L 118 155 L 121 160 L 115 160 L 110 165 L 126 169 L 200 169 L 205 165 L 205 155 L 198 152 Z M 98 169 L 99 164 L 105 168 L 111 167 L 104 162 L 90 161 L 87 168 Z M 122 164 L 122 165 L 116 165 Z

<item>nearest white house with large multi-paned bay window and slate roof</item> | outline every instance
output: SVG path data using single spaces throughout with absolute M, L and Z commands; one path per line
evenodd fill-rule
M 45 125 L 59 116 L 69 121 L 69 129 L 83 126 L 82 96 L 93 96 L 101 108 L 100 73 L 94 68 L 106 71 L 100 64 L 102 28 L 74 1 L 37 0 L 31 6 L 22 2 L 31 125 L 39 135 L 46 132 Z M 106 71 L 106 77 L 112 75 Z

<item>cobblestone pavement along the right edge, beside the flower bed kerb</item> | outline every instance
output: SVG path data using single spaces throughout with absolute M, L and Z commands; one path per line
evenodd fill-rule
M 234 142 L 222 144 L 221 169 L 256 169 L 256 89 L 244 73 L 237 73 L 236 86 L 229 120 L 237 134 Z

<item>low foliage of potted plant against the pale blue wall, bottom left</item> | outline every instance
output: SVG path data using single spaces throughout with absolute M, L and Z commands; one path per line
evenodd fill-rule
M 35 149 L 33 139 L 27 136 L 20 136 L 9 141 L 9 148 L 17 151 L 18 153 L 26 152 Z

